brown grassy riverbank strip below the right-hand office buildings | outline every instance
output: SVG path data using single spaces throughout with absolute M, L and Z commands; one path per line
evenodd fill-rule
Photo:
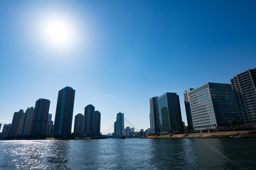
M 256 130 L 239 130 L 228 132 L 203 132 L 203 133 L 185 133 L 175 135 L 153 135 L 146 138 L 166 139 L 166 138 L 230 138 L 242 134 L 245 137 L 256 137 Z

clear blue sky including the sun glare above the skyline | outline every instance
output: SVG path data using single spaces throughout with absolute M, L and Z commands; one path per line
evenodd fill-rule
M 54 120 L 65 86 L 74 117 L 102 113 L 103 134 L 118 112 L 149 128 L 149 98 L 165 92 L 186 123 L 184 90 L 255 67 L 255 18 L 256 1 L 0 1 L 0 123 L 38 98 Z

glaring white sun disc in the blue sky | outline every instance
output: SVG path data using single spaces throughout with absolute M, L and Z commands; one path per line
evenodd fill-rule
M 48 45 L 63 48 L 73 42 L 74 30 L 67 20 L 51 18 L 43 24 L 43 37 Z

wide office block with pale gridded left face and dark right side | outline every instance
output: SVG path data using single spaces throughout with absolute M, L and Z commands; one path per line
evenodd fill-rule
M 230 84 L 206 83 L 188 92 L 195 130 L 230 126 L 238 119 L 238 107 Z

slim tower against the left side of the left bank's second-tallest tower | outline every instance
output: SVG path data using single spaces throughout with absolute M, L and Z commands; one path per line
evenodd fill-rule
M 34 108 L 33 107 L 27 108 L 26 113 L 25 113 L 24 122 L 23 122 L 22 132 L 21 132 L 22 136 L 31 135 L 33 113 L 34 113 Z

